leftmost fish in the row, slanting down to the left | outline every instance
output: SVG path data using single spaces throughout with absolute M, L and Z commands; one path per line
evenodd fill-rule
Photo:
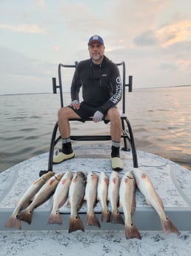
M 13 213 L 11 214 L 9 220 L 7 220 L 7 223 L 5 224 L 7 228 L 21 229 L 21 220 L 18 219 L 19 212 L 29 206 L 30 201 L 33 199 L 34 195 L 54 174 L 55 173 L 53 171 L 49 171 L 47 172 L 47 174 L 42 175 L 38 178 L 38 180 L 34 181 L 30 185 L 30 187 L 19 200 L 19 203 L 17 204 L 16 209 L 14 209 Z

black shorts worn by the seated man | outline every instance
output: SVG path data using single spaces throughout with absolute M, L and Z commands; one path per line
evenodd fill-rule
M 84 102 L 81 102 L 79 109 L 74 109 L 73 106 L 68 106 L 73 109 L 73 111 L 78 114 L 78 116 L 81 117 L 81 122 L 85 122 L 88 118 L 92 117 L 96 111 L 98 111 L 99 108 L 92 107 L 90 105 L 87 105 Z M 116 106 L 113 106 L 112 108 L 116 108 Z M 107 115 L 104 114 L 104 117 Z M 103 119 L 104 119 L 103 117 Z M 105 123 L 110 122 L 109 120 L 104 120 Z

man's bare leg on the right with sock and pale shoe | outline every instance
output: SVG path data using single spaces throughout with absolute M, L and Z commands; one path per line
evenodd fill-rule
M 118 112 L 118 108 L 110 108 L 107 111 L 105 119 L 110 120 L 110 134 L 112 138 L 112 152 L 111 152 L 111 164 L 114 171 L 121 171 L 123 164 L 120 159 L 120 142 L 121 142 L 121 116 Z

